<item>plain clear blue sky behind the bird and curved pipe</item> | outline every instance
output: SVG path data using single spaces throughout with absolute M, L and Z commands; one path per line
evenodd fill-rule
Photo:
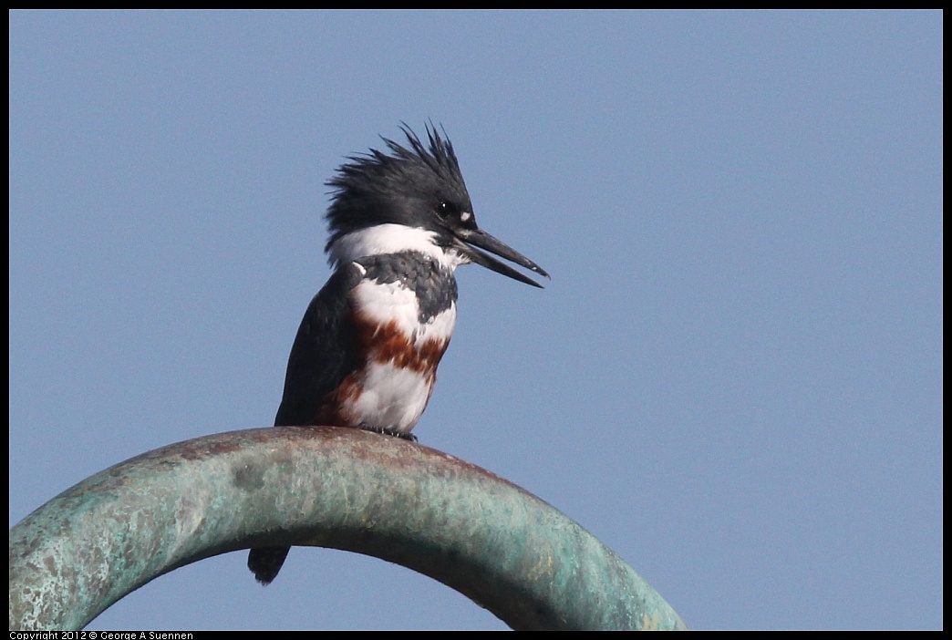
M 423 444 L 694 628 L 942 628 L 939 12 L 11 12 L 10 525 L 271 424 L 324 182 L 428 119 L 552 281 L 458 271 Z M 316 549 L 89 627 L 501 628 Z

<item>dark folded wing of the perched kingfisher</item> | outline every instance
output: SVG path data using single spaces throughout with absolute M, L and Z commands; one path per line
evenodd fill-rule
M 310 301 L 288 356 L 275 426 L 313 425 L 321 399 L 360 365 L 347 301 L 360 278 L 353 264 L 342 267 Z

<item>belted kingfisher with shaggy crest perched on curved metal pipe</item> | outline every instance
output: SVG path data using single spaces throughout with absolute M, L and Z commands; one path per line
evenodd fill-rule
M 456 324 L 453 270 L 476 263 L 542 287 L 485 251 L 549 277 L 479 229 L 453 146 L 406 125 L 408 147 L 351 156 L 327 181 L 328 260 L 334 272 L 310 301 L 288 358 L 275 426 L 328 425 L 416 440 L 416 425 Z M 289 548 L 252 549 L 267 585 Z

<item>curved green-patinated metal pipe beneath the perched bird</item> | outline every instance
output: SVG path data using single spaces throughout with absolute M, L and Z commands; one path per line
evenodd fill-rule
M 684 629 L 613 551 L 463 460 L 338 428 L 232 431 L 89 477 L 10 530 L 10 629 L 80 629 L 155 577 L 252 546 L 374 555 L 514 629 Z

